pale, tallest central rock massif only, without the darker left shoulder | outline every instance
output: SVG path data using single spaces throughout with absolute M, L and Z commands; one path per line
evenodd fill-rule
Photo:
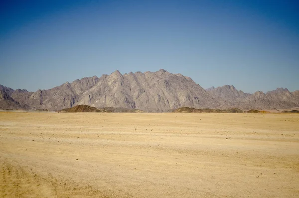
M 96 86 L 82 94 L 79 104 L 91 104 L 97 108 L 136 108 L 148 112 L 163 112 L 181 106 L 220 106 L 191 78 L 163 69 L 124 75 L 116 70 L 111 75 L 103 75 Z

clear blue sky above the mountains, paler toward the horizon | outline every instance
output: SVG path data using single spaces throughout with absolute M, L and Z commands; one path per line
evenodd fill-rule
M 299 89 L 298 0 L 1 0 L 0 84 L 157 71 L 203 88 Z

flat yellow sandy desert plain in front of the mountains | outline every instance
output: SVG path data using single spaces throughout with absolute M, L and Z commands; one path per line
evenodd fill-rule
M 299 114 L 0 112 L 0 198 L 298 198 Z

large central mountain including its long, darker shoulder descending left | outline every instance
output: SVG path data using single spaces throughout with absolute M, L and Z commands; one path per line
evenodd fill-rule
M 77 79 L 52 89 L 14 91 L 11 97 L 34 110 L 60 110 L 81 104 L 99 109 L 114 107 L 147 112 L 164 112 L 182 106 L 222 107 L 191 78 L 163 69 L 124 75 L 116 70 L 100 78 L 93 76 Z

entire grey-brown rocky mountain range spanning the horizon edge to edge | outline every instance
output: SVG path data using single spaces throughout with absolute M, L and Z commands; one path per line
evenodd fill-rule
M 164 69 L 121 74 L 118 70 L 101 77 L 85 77 L 47 90 L 29 92 L 0 85 L 0 109 L 61 110 L 76 105 L 166 112 L 180 107 L 197 109 L 292 109 L 299 108 L 299 90 L 287 88 L 253 94 L 233 85 L 203 89 L 190 77 Z

